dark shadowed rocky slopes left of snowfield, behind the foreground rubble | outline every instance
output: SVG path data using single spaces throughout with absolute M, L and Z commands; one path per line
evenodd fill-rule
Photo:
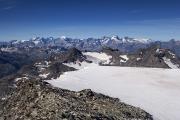
M 11 91 L 16 78 L 49 80 L 59 77 L 63 72 L 76 69 L 64 65 L 64 62 L 83 61 L 81 51 L 72 48 L 63 52 L 51 49 L 30 48 L 13 53 L 0 53 L 0 97 Z M 48 74 L 46 78 L 39 75 Z

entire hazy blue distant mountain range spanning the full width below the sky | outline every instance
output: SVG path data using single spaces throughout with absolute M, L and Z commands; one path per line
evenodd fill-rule
M 35 37 L 29 40 L 12 40 L 10 42 L 1 42 L 1 46 L 14 47 L 58 47 L 58 48 L 72 48 L 75 47 L 81 51 L 100 51 L 103 47 L 110 47 L 118 49 L 122 52 L 134 52 L 139 48 L 147 48 L 151 44 L 160 45 L 162 48 L 171 49 L 174 53 L 180 56 L 180 41 L 155 41 L 152 39 L 137 39 L 130 37 L 120 38 L 119 36 L 102 38 L 88 38 L 88 39 L 73 39 L 65 36 L 59 38 L 43 38 Z

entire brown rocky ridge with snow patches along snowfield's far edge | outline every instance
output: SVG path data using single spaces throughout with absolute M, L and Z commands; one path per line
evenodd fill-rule
M 157 49 L 162 50 L 157 53 Z M 170 49 L 161 49 L 158 45 L 152 45 L 148 48 L 139 49 L 138 51 L 127 54 L 117 49 L 104 48 L 102 52 L 112 56 L 111 66 L 128 66 L 128 67 L 152 67 L 152 68 L 170 68 L 164 61 L 164 58 L 169 59 L 174 65 L 180 67 L 180 58 L 175 55 Z M 128 60 L 125 60 L 121 55 L 127 55 Z M 124 61 L 124 62 L 121 62 Z

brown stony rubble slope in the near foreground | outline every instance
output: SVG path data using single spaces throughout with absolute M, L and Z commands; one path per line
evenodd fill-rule
M 36 80 L 20 80 L 1 100 L 0 120 L 152 120 L 140 108 L 92 92 L 52 87 Z

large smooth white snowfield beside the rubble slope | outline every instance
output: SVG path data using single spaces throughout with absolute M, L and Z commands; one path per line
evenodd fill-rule
M 92 89 L 140 107 L 155 120 L 180 120 L 180 70 L 130 68 L 89 64 L 66 72 L 53 86 L 79 91 Z

